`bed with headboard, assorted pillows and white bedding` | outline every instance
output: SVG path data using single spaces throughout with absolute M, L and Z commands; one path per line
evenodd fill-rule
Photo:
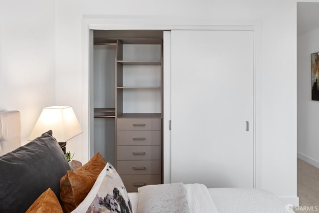
M 265 190 L 149 185 L 127 193 L 116 169 L 96 155 L 72 171 L 52 131 L 21 146 L 20 114 L 0 112 L 0 212 L 288 213 Z

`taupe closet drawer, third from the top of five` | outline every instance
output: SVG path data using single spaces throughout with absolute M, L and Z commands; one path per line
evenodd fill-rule
M 117 160 L 160 160 L 161 146 L 117 146 Z

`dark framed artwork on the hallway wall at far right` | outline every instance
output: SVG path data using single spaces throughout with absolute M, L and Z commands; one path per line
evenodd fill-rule
M 311 99 L 319 101 L 319 52 L 311 54 Z

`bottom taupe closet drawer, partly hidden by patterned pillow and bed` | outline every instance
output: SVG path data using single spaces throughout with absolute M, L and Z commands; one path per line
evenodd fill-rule
M 121 175 L 127 192 L 137 192 L 139 187 L 161 184 L 160 175 Z

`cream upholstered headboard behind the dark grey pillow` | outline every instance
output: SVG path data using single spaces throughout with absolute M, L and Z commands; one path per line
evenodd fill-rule
M 21 146 L 20 112 L 0 112 L 0 156 L 19 146 Z

